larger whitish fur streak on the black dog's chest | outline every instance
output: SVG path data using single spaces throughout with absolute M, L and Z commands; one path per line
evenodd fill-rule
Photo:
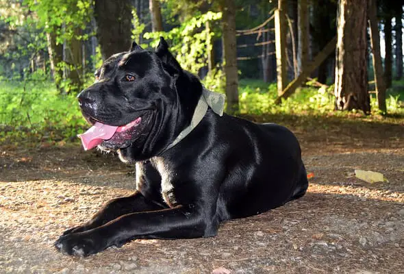
M 150 160 L 151 164 L 157 169 L 158 173 L 162 177 L 161 193 L 164 202 L 171 208 L 177 206 L 177 199 L 175 199 L 175 192 L 173 186 L 173 178 L 175 171 L 170 164 L 163 158 L 155 157 Z

